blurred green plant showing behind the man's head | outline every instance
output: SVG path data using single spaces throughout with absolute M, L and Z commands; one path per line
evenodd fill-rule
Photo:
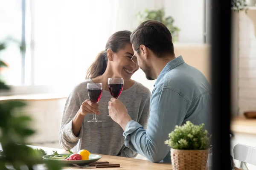
M 145 9 L 143 12 L 139 12 L 137 14 L 139 22 L 142 23 L 146 20 L 154 20 L 163 23 L 171 32 L 172 34 L 172 41 L 177 42 L 178 40 L 178 33 L 180 29 L 174 26 L 174 19 L 171 16 L 166 17 L 164 9 L 157 9 L 157 10 L 148 10 Z

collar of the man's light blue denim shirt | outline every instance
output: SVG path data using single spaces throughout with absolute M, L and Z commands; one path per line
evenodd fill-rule
M 182 58 L 182 56 L 179 56 L 175 59 L 173 59 L 172 61 L 169 61 L 166 66 L 163 68 L 163 70 L 161 71 L 161 73 L 159 74 L 159 76 L 157 77 L 157 81 L 155 82 L 154 86 L 157 85 L 157 83 L 163 78 L 163 76 L 170 70 L 172 70 L 173 68 L 177 67 L 178 65 L 184 63 L 184 60 Z

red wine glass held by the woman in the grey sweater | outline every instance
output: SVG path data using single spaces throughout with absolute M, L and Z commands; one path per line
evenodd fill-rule
M 87 83 L 87 93 L 90 101 L 93 103 L 98 103 L 102 96 L 102 83 Z M 102 122 L 96 119 L 96 114 L 93 114 L 92 120 L 87 120 L 87 122 Z

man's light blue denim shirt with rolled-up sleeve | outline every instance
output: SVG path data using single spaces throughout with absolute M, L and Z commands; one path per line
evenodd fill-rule
M 125 145 L 151 162 L 171 162 L 171 148 L 164 144 L 169 133 L 188 120 L 204 123 L 209 130 L 210 100 L 210 85 L 204 75 L 181 56 L 173 59 L 154 84 L 147 129 L 133 120 L 128 122 L 123 133 Z

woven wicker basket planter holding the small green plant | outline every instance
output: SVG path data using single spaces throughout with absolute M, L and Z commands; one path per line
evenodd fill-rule
M 171 149 L 173 170 L 206 170 L 209 150 Z

